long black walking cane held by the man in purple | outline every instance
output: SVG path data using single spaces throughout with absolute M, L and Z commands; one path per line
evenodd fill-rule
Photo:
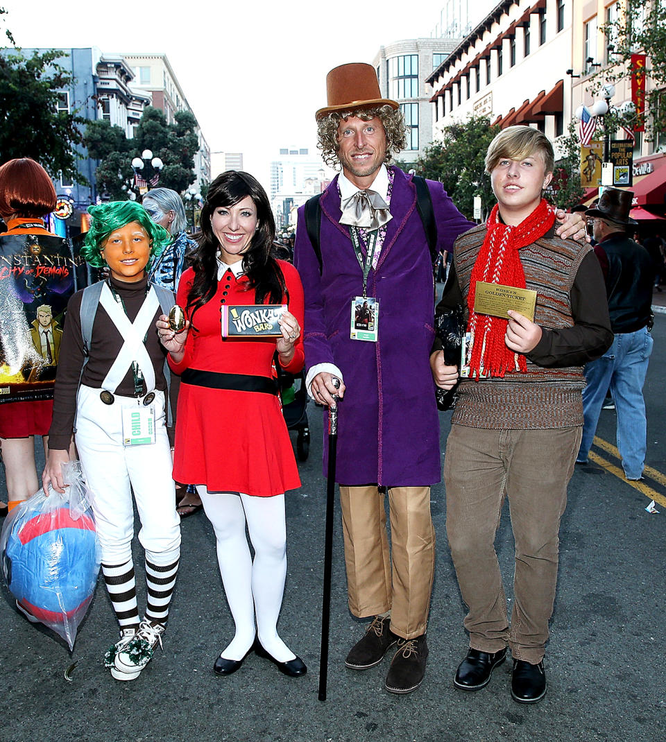
M 333 385 L 340 380 L 333 376 Z M 330 574 L 333 567 L 333 505 L 336 497 L 336 449 L 338 445 L 338 395 L 334 407 L 328 408 L 328 478 L 326 482 L 326 531 L 324 538 L 324 592 L 321 597 L 321 651 L 319 653 L 319 700 L 326 700 L 328 677 L 328 630 L 330 628 Z

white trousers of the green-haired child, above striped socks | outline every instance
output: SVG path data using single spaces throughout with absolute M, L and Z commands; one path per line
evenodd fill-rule
M 122 410 L 136 407 L 137 399 L 115 395 L 114 404 L 104 404 L 99 391 L 85 386 L 79 389 L 75 441 L 94 494 L 102 562 L 116 565 L 131 558 L 134 490 L 141 521 L 139 541 L 155 564 L 171 564 L 180 550 L 180 518 L 175 508 L 164 394 L 156 392 L 152 403 L 155 443 L 124 447 Z

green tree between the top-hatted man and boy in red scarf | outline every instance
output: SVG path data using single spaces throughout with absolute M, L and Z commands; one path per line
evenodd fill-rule
M 425 148 L 416 163 L 417 174 L 439 180 L 457 208 L 469 219 L 474 214 L 474 196 L 481 197 L 485 220 L 496 199 L 484 162 L 488 145 L 500 131 L 488 116 L 469 116 L 444 128 L 442 142 Z

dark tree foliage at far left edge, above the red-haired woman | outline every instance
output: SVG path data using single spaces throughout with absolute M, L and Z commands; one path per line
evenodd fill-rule
M 7 32 L 8 33 L 8 32 Z M 11 39 L 10 39 L 11 40 Z M 79 155 L 74 145 L 82 141 L 77 128 L 84 119 L 58 111 L 59 92 L 71 85 L 71 76 L 56 63 L 61 51 L 0 51 L 0 160 L 32 157 L 55 177 L 87 183 L 76 170 Z

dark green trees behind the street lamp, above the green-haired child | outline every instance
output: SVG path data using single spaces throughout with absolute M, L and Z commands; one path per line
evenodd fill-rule
M 113 200 L 127 200 L 131 193 L 138 195 L 131 160 L 149 149 L 164 163 L 159 185 L 182 194 L 195 180 L 197 119 L 189 111 L 178 111 L 174 118 L 173 124 L 167 124 L 162 111 L 148 106 L 133 139 L 127 139 L 122 128 L 108 121 L 89 122 L 85 145 L 90 157 L 99 160 L 95 172 L 99 192 Z

